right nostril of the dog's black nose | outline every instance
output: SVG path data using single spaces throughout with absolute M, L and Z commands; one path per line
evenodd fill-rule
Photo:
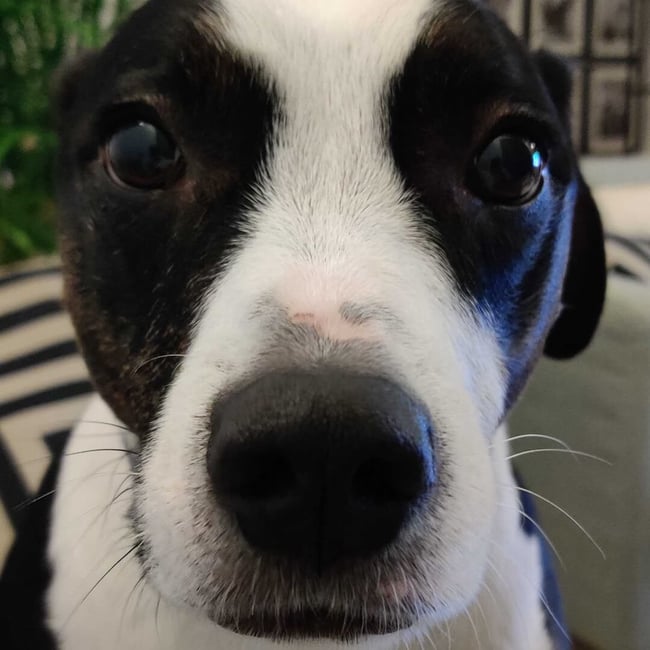
M 372 505 L 409 503 L 420 498 L 429 481 L 422 462 L 414 457 L 371 458 L 362 462 L 352 478 L 351 496 Z

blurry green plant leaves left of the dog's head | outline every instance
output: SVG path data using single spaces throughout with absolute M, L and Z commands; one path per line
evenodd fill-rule
M 133 0 L 0 0 L 0 264 L 55 246 L 50 79 L 103 45 Z

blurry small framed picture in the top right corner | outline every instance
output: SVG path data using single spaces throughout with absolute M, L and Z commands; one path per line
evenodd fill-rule
M 625 57 L 635 50 L 636 0 L 595 0 L 593 50 L 596 56 Z

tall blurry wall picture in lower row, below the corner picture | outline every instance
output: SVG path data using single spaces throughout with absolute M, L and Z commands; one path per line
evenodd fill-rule
M 624 65 L 596 66 L 591 74 L 589 153 L 617 154 L 629 149 L 633 137 L 631 78 Z

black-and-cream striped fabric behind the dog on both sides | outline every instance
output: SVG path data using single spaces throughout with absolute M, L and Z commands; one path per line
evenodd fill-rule
M 650 283 L 650 240 L 611 235 L 607 255 L 612 271 Z M 0 276 L 0 566 L 91 392 L 60 296 L 57 260 Z

